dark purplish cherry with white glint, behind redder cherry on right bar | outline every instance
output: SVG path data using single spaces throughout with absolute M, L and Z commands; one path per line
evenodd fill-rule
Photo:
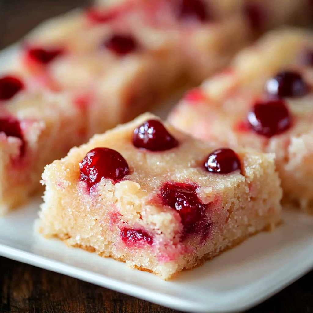
M 266 82 L 265 90 L 277 97 L 302 97 L 308 92 L 308 86 L 296 72 L 280 72 Z

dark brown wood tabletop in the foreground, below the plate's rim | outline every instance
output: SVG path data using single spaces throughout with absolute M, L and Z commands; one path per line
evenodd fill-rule
M 178 313 L 81 280 L 0 257 L 0 312 Z M 313 271 L 249 313 L 313 313 Z

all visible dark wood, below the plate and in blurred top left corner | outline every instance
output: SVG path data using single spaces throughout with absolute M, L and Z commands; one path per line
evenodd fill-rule
M 0 49 L 84 0 L 0 0 Z M 312 252 L 313 253 L 313 252 Z M 178 313 L 83 281 L 0 257 L 0 312 Z M 313 313 L 313 271 L 249 313 Z

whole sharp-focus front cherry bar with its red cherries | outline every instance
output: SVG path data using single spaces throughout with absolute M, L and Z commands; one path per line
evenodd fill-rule
M 39 231 L 169 279 L 280 221 L 274 154 L 145 114 L 46 166 Z

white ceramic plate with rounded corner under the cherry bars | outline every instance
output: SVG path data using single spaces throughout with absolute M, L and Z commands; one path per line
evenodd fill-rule
M 0 69 L 16 48 L 0 55 Z M 129 269 L 33 231 L 40 198 L 0 218 L 0 255 L 188 312 L 239 312 L 313 268 L 313 217 L 286 210 L 273 233 L 260 233 L 177 279 Z

